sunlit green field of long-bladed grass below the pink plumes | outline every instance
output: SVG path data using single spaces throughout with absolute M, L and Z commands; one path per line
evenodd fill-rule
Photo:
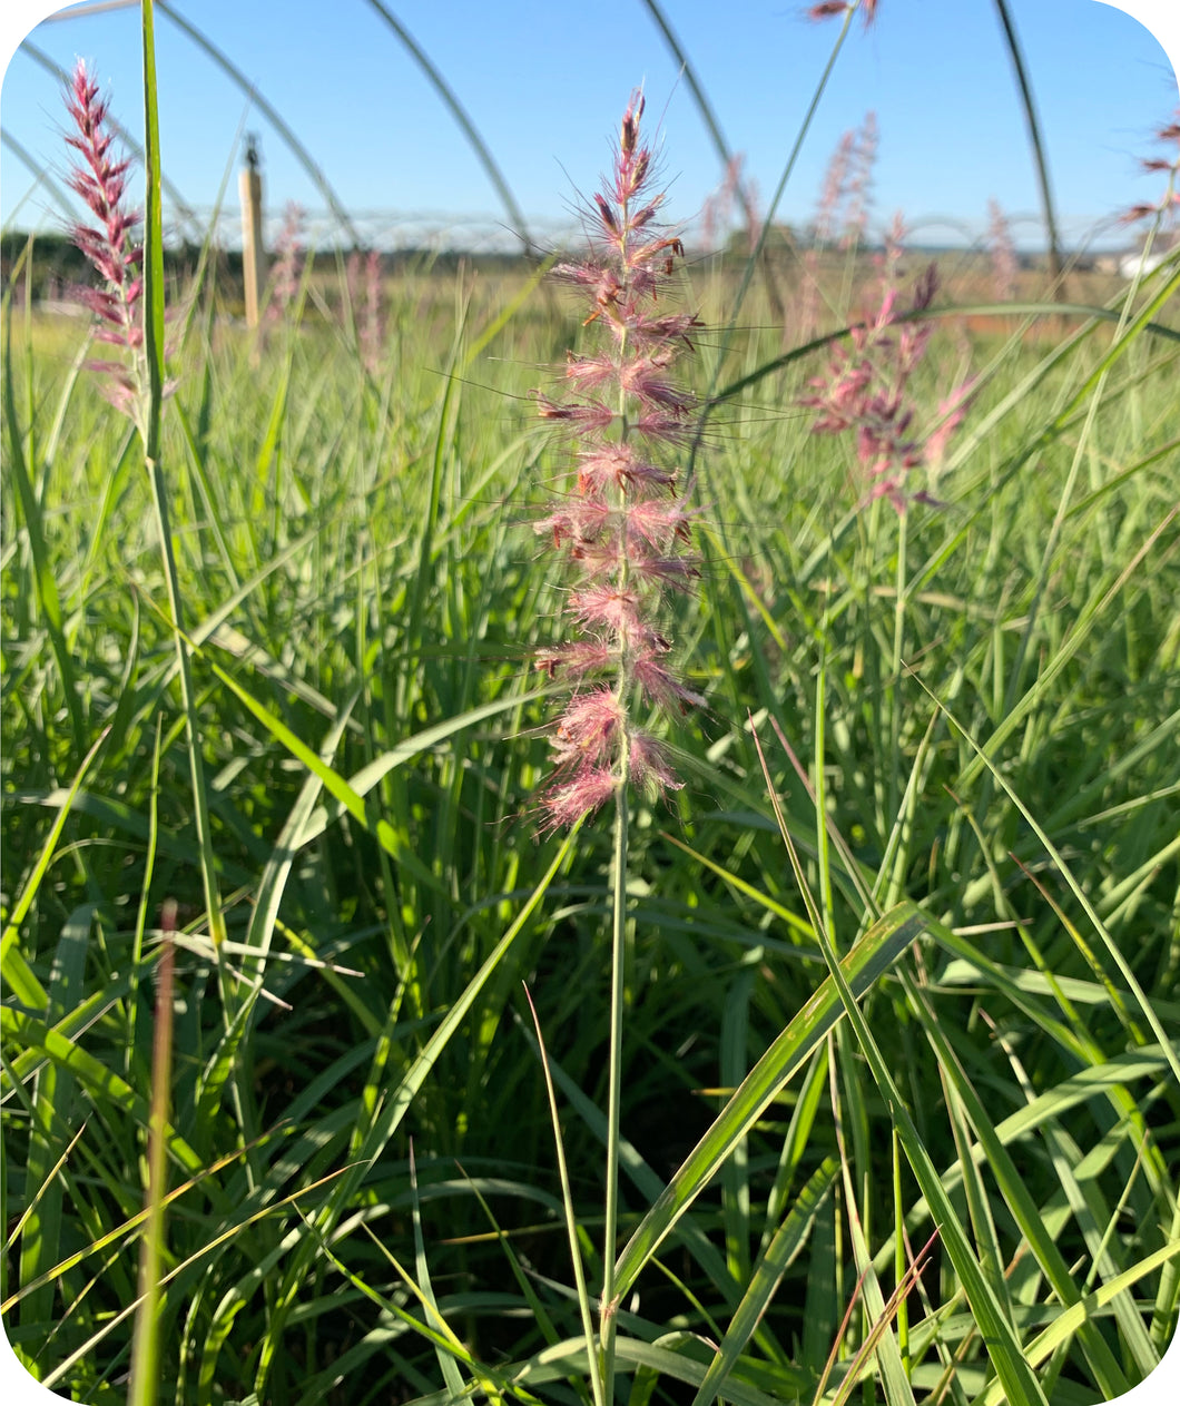
M 622 877 L 609 818 L 539 811 L 565 292 L 423 260 L 373 360 L 343 264 L 256 333 L 210 264 L 153 439 L 6 288 L 0 1308 L 55 1391 L 602 1406 L 603 1279 L 630 1406 L 1083 1406 L 1159 1362 L 1177 262 L 966 318 L 945 260 L 910 392 L 972 395 L 904 513 L 800 405 L 868 262 L 810 347 L 802 264 L 724 330 L 741 273 L 678 274 L 661 628 L 705 706 Z

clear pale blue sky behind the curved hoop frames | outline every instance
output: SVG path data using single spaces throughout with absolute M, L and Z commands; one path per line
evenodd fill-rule
M 1156 32 L 1180 53 L 1176 0 L 1127 0 L 1155 11 Z M 504 207 L 480 162 L 421 69 L 367 0 L 174 0 L 294 128 L 353 212 L 502 221 Z M 778 184 L 838 22 L 809 24 L 802 0 L 662 0 L 709 94 L 730 148 L 744 156 L 765 201 Z M 669 215 L 695 219 L 722 177 L 688 84 L 641 0 L 388 0 L 442 72 L 495 156 L 526 215 L 568 215 L 589 193 L 633 84 L 648 118 L 661 117 Z M 0 59 L 52 0 L 6 0 Z M 76 7 L 77 8 L 77 7 Z M 82 7 L 84 8 L 84 7 Z M 1060 224 L 1080 240 L 1110 217 L 1159 194 L 1139 174 L 1152 134 L 1177 104 L 1176 75 L 1159 39 L 1097 0 L 1010 0 L 1046 134 Z M 10 13 L 11 11 L 11 13 Z M 1166 15 L 1170 11 L 1170 21 Z M 165 172 L 207 209 L 231 173 L 236 198 L 239 131 L 262 138 L 266 201 L 311 211 L 323 195 L 250 108 L 243 91 L 169 20 L 158 14 Z M 138 10 L 41 24 L 31 41 L 62 67 L 84 56 L 113 111 L 134 132 L 139 112 Z M 1039 201 L 1015 86 L 993 0 L 882 0 L 876 24 L 854 24 L 824 94 L 781 218 L 814 211 L 840 139 L 868 111 L 880 129 L 873 218 L 902 211 L 931 239 L 954 238 L 935 219 L 979 233 L 996 198 L 1021 243 L 1039 239 Z M 56 80 L 31 56 L 8 60 L 0 127 L 35 165 L 60 176 Z M 60 212 L 10 145 L 0 153 L 0 218 L 52 226 Z

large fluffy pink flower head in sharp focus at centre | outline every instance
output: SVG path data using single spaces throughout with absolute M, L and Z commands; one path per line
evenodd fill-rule
M 685 555 L 692 515 L 675 468 L 661 461 L 661 451 L 691 439 L 693 399 L 674 363 L 692 349 L 699 323 L 660 304 L 684 247 L 655 218 L 664 195 L 651 190 L 643 105 L 633 93 L 610 177 L 588 205 L 588 257 L 553 271 L 589 305 L 582 325 L 595 326 L 599 347 L 570 353 L 567 396 L 537 395 L 541 418 L 578 449 L 570 495 L 534 526 L 582 578 L 570 595 L 581 637 L 537 661 L 575 688 L 553 738 L 557 778 L 541 797 L 549 830 L 574 824 L 630 782 L 653 794 L 678 789 L 664 748 L 634 711 L 641 700 L 665 710 L 703 702 L 668 669 L 671 645 L 654 624 L 664 591 L 691 591 L 699 575 Z

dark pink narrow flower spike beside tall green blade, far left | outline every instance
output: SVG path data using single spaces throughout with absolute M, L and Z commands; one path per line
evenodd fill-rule
M 143 328 L 139 302 L 143 291 L 143 247 L 136 239 L 139 212 L 129 211 L 125 205 L 125 177 L 131 162 L 127 157 L 115 159 L 113 153 L 114 136 L 107 131 L 107 101 L 98 96 L 98 84 L 87 73 L 82 59 L 75 66 L 65 101 L 75 125 L 75 132 L 66 136 L 66 142 L 82 157 L 69 174 L 69 186 L 98 222 L 97 226 L 76 225 L 72 235 L 105 284 L 103 288 L 82 288 L 77 297 L 101 323 L 96 337 L 132 353 L 129 364 L 91 361 L 90 368 L 108 375 L 103 394 L 134 418 L 142 402 Z

